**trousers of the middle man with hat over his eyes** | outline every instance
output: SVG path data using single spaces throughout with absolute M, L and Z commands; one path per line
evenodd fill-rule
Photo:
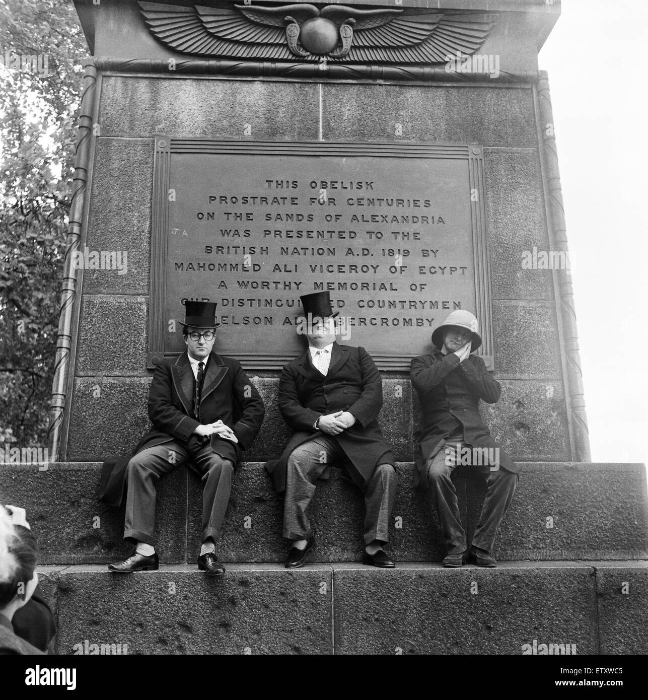
M 396 500 L 398 480 L 393 466 L 377 465 L 371 479 L 365 483 L 332 435 L 319 435 L 304 442 L 288 457 L 283 536 L 289 540 L 305 540 L 311 536 L 306 510 L 314 496 L 317 479 L 334 462 L 346 470 L 365 496 L 365 545 L 374 540 L 388 542 L 389 517 Z

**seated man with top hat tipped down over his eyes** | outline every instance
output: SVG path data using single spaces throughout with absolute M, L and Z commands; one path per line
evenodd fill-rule
M 315 538 L 306 514 L 317 479 L 332 464 L 365 496 L 362 563 L 393 568 L 383 551 L 396 498 L 396 472 L 389 444 L 376 421 L 383 404 L 382 379 L 364 348 L 335 342 L 328 292 L 300 297 L 308 348 L 283 367 L 279 410 L 295 431 L 278 460 L 268 462 L 276 491 L 286 491 L 283 536 L 291 540 L 286 568 L 304 565 Z

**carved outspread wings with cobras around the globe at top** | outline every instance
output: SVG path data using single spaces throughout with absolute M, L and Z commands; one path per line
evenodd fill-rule
M 343 5 L 319 10 L 305 3 L 210 8 L 141 1 L 139 6 L 155 38 L 181 53 L 288 61 L 297 54 L 302 59 L 318 60 L 319 55 L 299 48 L 295 32 L 304 22 L 321 17 L 340 32 L 337 48 L 328 52 L 327 59 L 363 64 L 434 64 L 446 62 L 456 52 L 471 55 L 497 20 L 497 15 L 488 13 L 360 10 Z M 287 16 L 293 22 L 290 31 L 295 52 L 288 46 Z

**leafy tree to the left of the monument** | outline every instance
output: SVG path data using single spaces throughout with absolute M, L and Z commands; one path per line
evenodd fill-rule
M 87 45 L 71 0 L 0 0 L 0 442 L 45 445 Z

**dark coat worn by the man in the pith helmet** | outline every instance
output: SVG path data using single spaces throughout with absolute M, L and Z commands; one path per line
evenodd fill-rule
M 455 353 L 444 355 L 435 348 L 431 354 L 411 360 L 409 371 L 423 415 L 421 428 L 414 433 L 420 443 L 414 464 L 415 486 L 428 488 L 428 460 L 443 447 L 444 437 L 460 431 L 465 443 L 472 447 L 498 448 L 500 467 L 516 472 L 512 459 L 491 437 L 479 415 L 479 399 L 495 403 L 502 391 L 481 357 L 470 355 L 460 362 Z M 490 471 L 488 465 L 476 468 Z

